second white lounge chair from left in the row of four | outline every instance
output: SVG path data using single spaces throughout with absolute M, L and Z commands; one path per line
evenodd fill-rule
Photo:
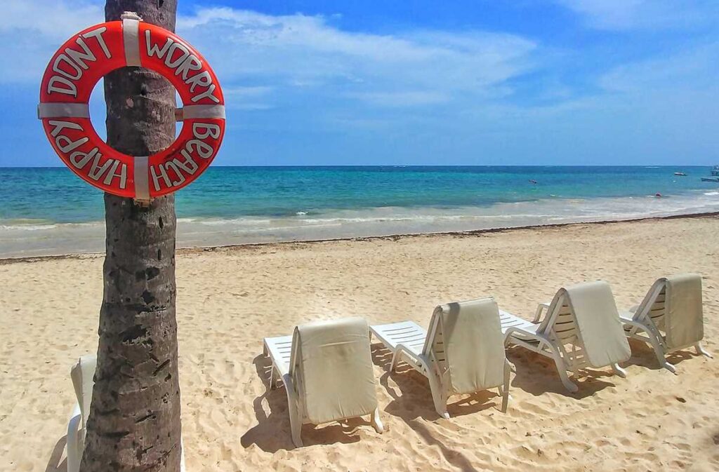
M 434 408 L 441 417 L 449 418 L 450 395 L 494 387 L 503 397 L 502 411 L 507 411 L 510 364 L 494 299 L 436 307 L 429 332 L 413 321 L 372 325 L 370 331 L 393 352 L 390 370 L 405 361 L 429 379 Z

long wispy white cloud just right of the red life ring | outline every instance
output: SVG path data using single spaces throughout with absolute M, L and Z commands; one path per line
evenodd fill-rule
M 326 17 L 270 16 L 201 8 L 178 32 L 203 51 L 221 80 L 264 80 L 383 106 L 416 106 L 506 93 L 535 67 L 537 45 L 513 34 L 347 32 Z

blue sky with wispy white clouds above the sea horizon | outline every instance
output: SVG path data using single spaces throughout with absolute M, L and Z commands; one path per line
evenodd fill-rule
M 214 165 L 719 162 L 717 0 L 179 3 L 225 91 Z M 61 165 L 40 77 L 103 5 L 4 0 L 0 166 Z

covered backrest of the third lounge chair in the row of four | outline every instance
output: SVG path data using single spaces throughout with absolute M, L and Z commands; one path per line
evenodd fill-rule
M 614 295 L 607 282 L 597 280 L 569 285 L 560 289 L 557 297 L 564 298 L 562 307 L 568 301 L 573 329 L 583 346 L 586 364 L 598 368 L 631 357 Z M 554 332 L 559 336 L 563 328 L 557 319 L 559 317 L 555 319 Z

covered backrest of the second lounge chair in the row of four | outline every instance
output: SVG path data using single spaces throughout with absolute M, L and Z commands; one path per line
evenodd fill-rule
M 423 348 L 448 376 L 452 393 L 498 387 L 504 382 L 505 351 L 499 308 L 493 298 L 455 302 L 434 309 Z

